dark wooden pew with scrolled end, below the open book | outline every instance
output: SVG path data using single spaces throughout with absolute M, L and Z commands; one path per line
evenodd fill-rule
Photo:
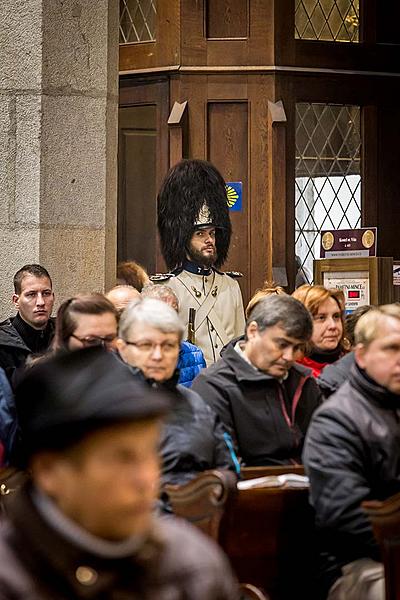
M 262 467 L 262 470 L 257 471 L 257 476 L 281 474 L 276 467 Z M 216 518 L 208 516 L 212 526 L 204 527 L 204 515 L 213 512 L 212 496 L 218 489 L 215 486 L 224 485 L 221 473 L 205 472 L 187 484 L 190 498 L 187 486 L 166 486 L 175 514 L 200 524 L 203 531 L 212 535 L 228 555 L 239 581 L 265 590 L 272 600 L 294 597 L 310 600 L 312 567 L 316 561 L 308 549 L 313 538 L 308 490 L 229 487 L 225 494 L 218 492 Z M 214 490 L 211 500 L 206 482 Z

